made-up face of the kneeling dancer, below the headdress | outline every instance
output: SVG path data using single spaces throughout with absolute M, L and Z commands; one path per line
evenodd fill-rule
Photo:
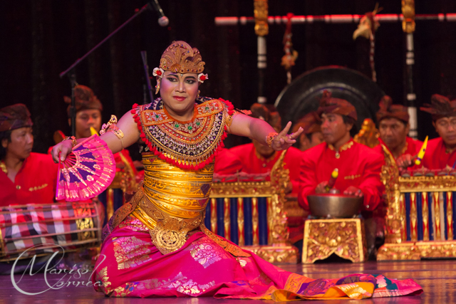
M 172 73 L 166 71 L 160 84 L 160 96 L 168 112 L 185 115 L 191 112 L 198 94 L 198 75 L 196 73 Z

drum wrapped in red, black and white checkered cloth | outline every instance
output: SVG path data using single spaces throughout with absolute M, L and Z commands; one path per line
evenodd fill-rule
M 0 262 L 99 246 L 103 207 L 98 201 L 0 207 Z

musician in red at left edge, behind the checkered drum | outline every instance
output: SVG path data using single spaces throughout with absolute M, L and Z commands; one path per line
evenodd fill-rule
M 51 204 L 56 196 L 58 164 L 31 152 L 32 125 L 26 105 L 0 110 L 0 206 Z

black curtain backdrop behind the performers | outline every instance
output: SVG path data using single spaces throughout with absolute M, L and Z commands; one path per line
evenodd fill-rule
M 257 36 L 254 25 L 215 26 L 215 16 L 253 16 L 253 0 L 161 0 L 170 25 L 162 28 L 147 11 L 117 33 L 76 68 L 78 83 L 88 85 L 103 103 L 103 122 L 142 103 L 144 70 L 140 51 L 147 51 L 150 71 L 174 40 L 199 48 L 209 80 L 202 95 L 224 98 L 247 109 L 257 100 Z M 380 14 L 400 14 L 400 0 L 379 1 Z M 53 145 L 56 130 L 70 133 L 63 95 L 71 95 L 68 78 L 58 74 L 126 21 L 145 0 L 0 1 L 1 107 L 24 103 L 31 110 L 36 152 Z M 371 0 L 269 1 L 269 16 L 365 14 Z M 416 14 L 456 13 L 456 1 L 416 1 Z M 355 23 L 293 26 L 299 58 L 294 77 L 322 65 L 342 65 L 370 77 L 368 41 L 351 38 Z M 281 67 L 284 25 L 270 25 L 267 36 L 266 96 L 274 103 L 286 85 Z M 378 85 L 404 103 L 405 34 L 401 23 L 381 23 L 376 33 Z M 418 106 L 434 93 L 456 97 L 456 22 L 417 21 L 415 93 Z M 152 83 L 155 85 L 155 82 Z M 292 109 L 291 109 L 292 110 Z M 430 115 L 418 111 L 418 132 L 435 137 Z M 244 142 L 229 137 L 227 145 Z

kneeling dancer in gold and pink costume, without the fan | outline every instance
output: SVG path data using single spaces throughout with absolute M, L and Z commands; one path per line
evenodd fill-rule
M 199 85 L 207 80 L 203 70 L 196 48 L 184 41 L 173 42 L 153 73 L 161 98 L 148 105 L 133 105 L 131 112 L 100 137 L 114 153 L 138 140 L 146 147 L 142 187 L 103 229 L 93 276 L 95 290 L 116 297 L 274 300 L 420 292 L 420 286 L 411 280 L 394 281 L 395 288 L 386 290 L 383 276 L 355 275 L 341 280 L 299 276 L 206 229 L 204 214 L 214 156 L 223 147 L 225 132 L 285 150 L 302 130 L 287 135 L 289 122 L 278 134 L 264 120 L 235 111 L 226 100 L 199 97 Z M 56 145 L 54 160 L 58 161 L 59 154 L 64 160 L 73 144 L 66 140 Z

